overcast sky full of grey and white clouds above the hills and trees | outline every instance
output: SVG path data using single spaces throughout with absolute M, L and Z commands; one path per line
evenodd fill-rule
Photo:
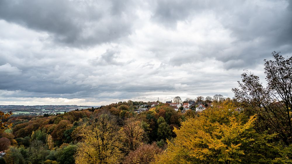
M 0 0 L 0 105 L 222 94 L 292 55 L 287 0 Z

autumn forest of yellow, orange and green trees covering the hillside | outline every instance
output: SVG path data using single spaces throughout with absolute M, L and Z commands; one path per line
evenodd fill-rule
M 138 114 L 131 100 L 57 115 L 0 112 L 0 163 L 292 163 L 292 57 L 272 56 L 267 85 L 245 71 L 233 98 L 202 112 L 159 103 Z

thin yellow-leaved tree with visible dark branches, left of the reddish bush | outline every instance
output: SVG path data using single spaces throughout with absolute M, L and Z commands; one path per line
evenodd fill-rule
M 81 128 L 82 142 L 78 146 L 75 163 L 120 163 L 124 154 L 116 121 L 110 114 L 100 114 L 96 120 Z

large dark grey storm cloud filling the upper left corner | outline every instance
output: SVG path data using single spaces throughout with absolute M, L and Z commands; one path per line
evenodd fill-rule
M 110 42 L 131 33 L 128 1 L 3 0 L 0 19 L 48 32 L 69 46 Z

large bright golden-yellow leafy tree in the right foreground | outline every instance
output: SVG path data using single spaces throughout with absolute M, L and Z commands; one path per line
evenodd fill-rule
M 254 163 L 261 152 L 253 147 L 267 144 L 253 129 L 256 116 L 246 118 L 231 102 L 213 105 L 198 117 L 175 128 L 177 137 L 168 142 L 156 163 Z M 263 137 L 261 138 L 263 139 Z M 263 159 L 262 162 L 265 160 Z M 267 162 L 267 161 L 265 161 Z

